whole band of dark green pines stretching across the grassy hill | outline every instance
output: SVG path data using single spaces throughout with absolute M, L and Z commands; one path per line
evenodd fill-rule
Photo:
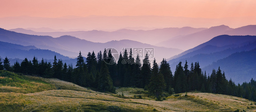
M 158 100 L 161 100 L 163 92 L 184 93 L 200 91 L 207 93 L 220 93 L 256 101 L 256 82 L 251 79 L 249 83 L 236 85 L 231 79 L 225 78 L 225 73 L 220 70 L 212 70 L 209 75 L 203 72 L 199 62 L 191 63 L 190 69 L 186 62 L 176 66 L 174 75 L 169 63 L 163 59 L 158 65 L 153 62 L 151 68 L 148 55 L 141 61 L 137 55 L 134 59 L 133 52 L 120 52 L 116 61 L 111 51 L 106 49 L 98 52 L 88 52 L 86 59 L 79 53 L 77 64 L 64 63 L 54 56 L 54 62 L 39 62 L 36 57 L 32 61 L 27 58 L 21 63 L 10 65 L 7 57 L 2 62 L 0 70 L 8 70 L 27 75 L 41 76 L 45 78 L 57 78 L 83 87 L 92 87 L 102 92 L 115 93 L 114 87 L 138 87 L 148 90 Z

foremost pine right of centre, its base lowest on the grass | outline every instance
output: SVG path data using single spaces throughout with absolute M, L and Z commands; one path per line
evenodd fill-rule
M 158 101 L 161 101 L 162 93 L 166 88 L 166 84 L 164 81 L 164 76 L 159 73 L 159 67 L 154 59 L 153 69 L 152 69 L 152 76 L 150 78 L 149 83 L 149 92 L 154 94 L 154 97 L 157 98 Z

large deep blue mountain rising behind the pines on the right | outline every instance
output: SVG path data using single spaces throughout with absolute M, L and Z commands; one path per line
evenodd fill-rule
M 187 60 L 188 65 L 190 65 L 191 62 L 199 62 L 200 67 L 203 71 L 206 70 L 207 74 L 211 74 L 212 69 L 218 69 L 220 66 L 221 70 L 225 71 L 227 79 L 232 78 L 232 80 L 236 83 L 242 83 L 245 81 L 248 82 L 251 78 L 256 78 L 251 77 L 254 75 L 254 73 L 251 71 L 255 70 L 256 65 L 246 65 L 246 63 L 250 62 L 248 59 L 250 59 L 251 62 L 255 61 L 255 58 L 251 58 L 254 55 L 249 56 L 248 59 L 246 59 L 245 55 L 247 51 L 254 54 L 254 49 L 256 49 L 256 36 L 220 35 L 214 37 L 208 42 L 194 47 L 193 49 L 184 51 L 178 56 L 173 57 L 173 59 L 168 62 L 173 71 L 175 70 L 175 66 L 177 63 L 179 63 L 179 61 L 182 61 L 184 64 Z M 237 53 L 239 56 L 235 56 L 236 59 L 233 58 L 233 55 L 237 55 Z M 238 59 L 238 57 L 241 59 Z M 234 65 L 235 63 L 236 65 Z M 228 66 L 229 64 L 231 64 L 230 66 L 234 67 Z M 239 67 L 247 69 L 241 70 L 238 69 Z M 246 70 L 251 71 L 250 73 L 247 73 Z M 236 71 L 236 74 L 234 71 Z M 240 79 L 239 76 L 244 78 Z

